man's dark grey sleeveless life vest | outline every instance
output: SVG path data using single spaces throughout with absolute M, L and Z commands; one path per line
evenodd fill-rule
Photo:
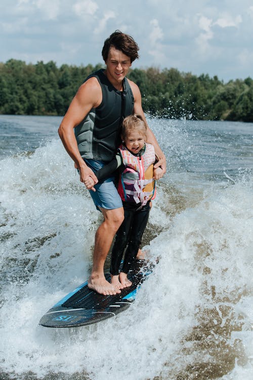
M 110 162 L 121 142 L 122 120 L 133 113 L 134 95 L 126 78 L 124 90 L 118 91 L 107 79 L 104 69 L 89 75 L 86 81 L 92 77 L 100 83 L 102 102 L 74 128 L 75 138 L 82 158 Z

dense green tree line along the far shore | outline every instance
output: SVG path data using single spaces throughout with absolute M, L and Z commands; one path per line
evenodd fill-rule
M 0 113 L 62 116 L 81 83 L 101 67 L 63 64 L 58 68 L 53 61 L 26 64 L 15 59 L 0 63 Z M 216 75 L 149 67 L 131 69 L 128 78 L 139 86 L 143 110 L 150 116 L 253 122 L 249 77 L 224 83 Z

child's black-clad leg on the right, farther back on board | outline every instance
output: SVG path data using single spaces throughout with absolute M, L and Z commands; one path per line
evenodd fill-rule
M 150 205 L 148 203 L 147 205 L 143 206 L 141 210 L 136 211 L 134 214 L 134 218 L 132 222 L 132 230 L 131 230 L 131 235 L 129 239 L 129 245 L 125 251 L 123 267 L 121 270 L 123 274 L 128 274 L 131 268 L 131 265 L 135 261 L 135 258 L 137 256 L 137 253 L 141 244 L 143 233 L 147 226 L 149 212 L 150 212 Z M 120 282 L 121 282 L 121 277 L 124 277 L 123 274 L 122 276 L 120 276 L 121 273 L 119 275 Z

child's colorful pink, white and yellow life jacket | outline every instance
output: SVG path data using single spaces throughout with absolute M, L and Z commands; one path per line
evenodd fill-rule
M 153 178 L 153 164 L 155 149 L 152 144 L 146 143 L 142 156 L 134 156 L 125 146 L 120 151 L 125 169 L 120 175 L 118 193 L 124 202 L 141 202 L 144 206 L 150 199 L 155 198 L 155 180 Z

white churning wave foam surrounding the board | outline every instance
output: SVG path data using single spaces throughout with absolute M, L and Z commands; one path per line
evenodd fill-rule
M 3 371 L 190 379 L 192 366 L 215 371 L 222 357 L 218 377 L 252 378 L 250 183 L 196 193 L 173 216 L 171 185 L 160 185 L 150 218 L 162 232 L 148 249 L 161 258 L 131 308 L 96 325 L 50 329 L 37 325 L 41 315 L 88 277 L 98 212 L 58 140 L 1 166 Z M 235 357 L 228 368 L 225 350 Z

